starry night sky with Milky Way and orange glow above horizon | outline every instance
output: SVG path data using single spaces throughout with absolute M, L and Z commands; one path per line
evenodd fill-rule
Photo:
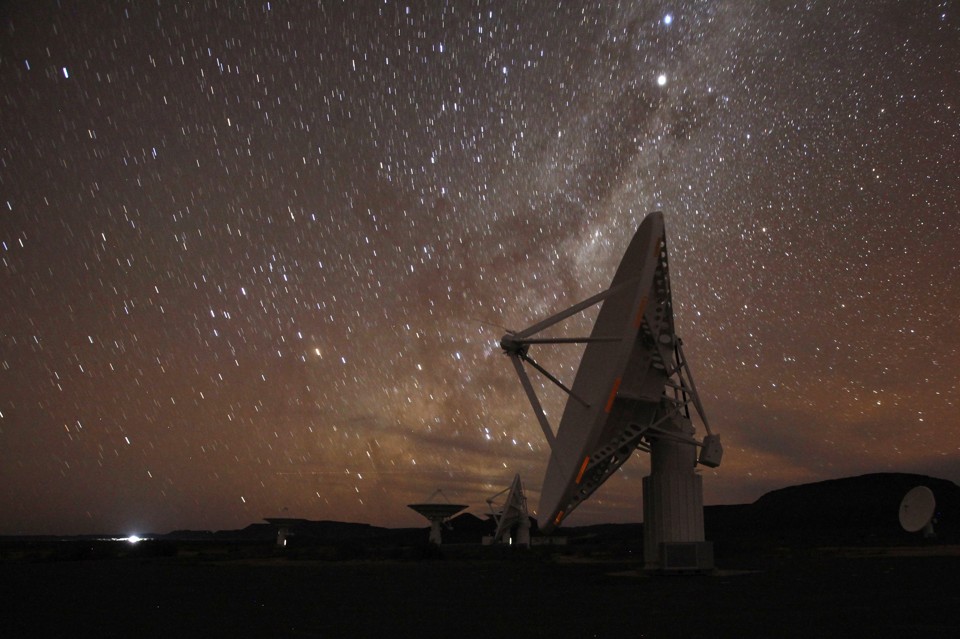
M 652 210 L 706 503 L 960 481 L 957 2 L 0 18 L 0 534 L 419 526 L 517 472 L 535 510 L 503 327 L 604 289 Z M 640 521 L 648 468 L 567 524 Z

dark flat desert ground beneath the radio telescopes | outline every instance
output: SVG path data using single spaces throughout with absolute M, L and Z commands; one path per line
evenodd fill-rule
M 0 636 L 960 636 L 956 546 L 721 556 L 673 576 L 583 550 L 155 554 L 8 552 Z

